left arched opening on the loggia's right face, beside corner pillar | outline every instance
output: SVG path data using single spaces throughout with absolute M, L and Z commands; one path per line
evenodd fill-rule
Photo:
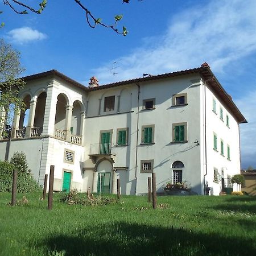
M 66 106 L 68 105 L 68 97 L 60 93 L 57 96 L 57 105 L 55 112 L 55 129 L 63 131 L 65 129 Z

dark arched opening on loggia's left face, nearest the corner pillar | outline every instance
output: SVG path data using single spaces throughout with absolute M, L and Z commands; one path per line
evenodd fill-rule
M 46 92 L 41 92 L 37 97 L 34 127 L 43 128 L 44 125 L 44 110 L 46 110 Z

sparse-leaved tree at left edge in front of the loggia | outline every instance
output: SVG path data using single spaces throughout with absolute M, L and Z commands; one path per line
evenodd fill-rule
M 19 59 L 20 53 L 0 39 L 0 110 L 4 112 L 2 117 L 5 121 L 2 129 L 6 128 L 11 113 L 18 108 L 24 109 L 24 102 L 18 97 L 19 90 L 25 85 L 24 80 L 19 78 L 24 70 Z M 2 119 L 0 121 L 3 122 Z

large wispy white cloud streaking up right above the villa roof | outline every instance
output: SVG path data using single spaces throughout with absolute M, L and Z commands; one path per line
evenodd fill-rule
M 107 63 L 92 71 L 101 84 L 199 67 L 207 61 L 222 72 L 232 61 L 256 51 L 256 1 L 222 0 L 195 6 L 175 15 L 166 30 L 150 43 L 120 56 L 118 75 Z M 143 42 L 143 40 L 142 40 Z

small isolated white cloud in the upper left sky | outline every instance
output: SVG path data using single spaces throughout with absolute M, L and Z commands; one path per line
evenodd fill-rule
M 20 27 L 7 32 L 7 38 L 13 43 L 23 44 L 46 39 L 47 35 L 31 27 Z

